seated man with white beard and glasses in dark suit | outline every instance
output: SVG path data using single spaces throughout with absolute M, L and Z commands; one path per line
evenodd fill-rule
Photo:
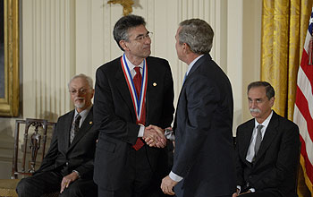
M 21 179 L 20 197 L 37 197 L 60 191 L 60 196 L 95 197 L 93 158 L 97 131 L 93 126 L 92 79 L 75 75 L 68 84 L 75 110 L 57 120 L 50 148 L 33 176 Z

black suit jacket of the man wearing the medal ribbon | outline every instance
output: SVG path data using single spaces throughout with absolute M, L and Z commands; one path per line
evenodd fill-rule
M 147 69 L 146 125 L 165 128 L 173 121 L 171 69 L 166 60 L 152 56 L 147 57 Z M 121 57 L 97 69 L 94 115 L 99 131 L 94 180 L 103 189 L 115 190 L 123 187 L 128 154 L 140 130 L 123 75 Z M 165 154 L 165 149 L 145 146 L 152 170 L 156 170 L 157 159 L 160 154 Z

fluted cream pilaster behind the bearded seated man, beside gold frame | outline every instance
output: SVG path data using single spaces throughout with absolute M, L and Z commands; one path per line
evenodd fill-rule
M 69 1 L 22 4 L 23 116 L 56 120 L 72 108 L 67 90 L 75 68 Z

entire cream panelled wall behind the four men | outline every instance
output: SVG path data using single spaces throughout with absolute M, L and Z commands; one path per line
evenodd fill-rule
M 47 118 L 72 109 L 67 82 L 75 73 L 95 79 L 97 67 L 122 51 L 112 31 L 123 13 L 106 0 L 21 1 L 21 117 Z M 233 85 L 234 128 L 250 118 L 246 86 L 259 80 L 261 0 L 135 0 L 133 13 L 147 21 L 152 56 L 172 67 L 175 103 L 187 65 L 176 57 L 174 35 L 185 19 L 206 20 L 216 36 L 211 55 Z M 0 118 L 0 178 L 10 175 L 16 118 Z M 6 169 L 6 170 L 5 170 Z

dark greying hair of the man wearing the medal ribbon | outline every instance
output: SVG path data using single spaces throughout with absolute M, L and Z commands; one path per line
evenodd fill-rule
M 114 25 L 114 30 L 113 30 L 113 36 L 114 39 L 122 50 L 123 47 L 120 46 L 120 41 L 121 40 L 126 40 L 128 41 L 129 35 L 128 35 L 128 30 L 131 28 L 138 27 L 140 25 L 146 26 L 146 21 L 144 18 L 138 15 L 127 15 L 123 16 L 120 20 L 118 20 L 115 25 Z

